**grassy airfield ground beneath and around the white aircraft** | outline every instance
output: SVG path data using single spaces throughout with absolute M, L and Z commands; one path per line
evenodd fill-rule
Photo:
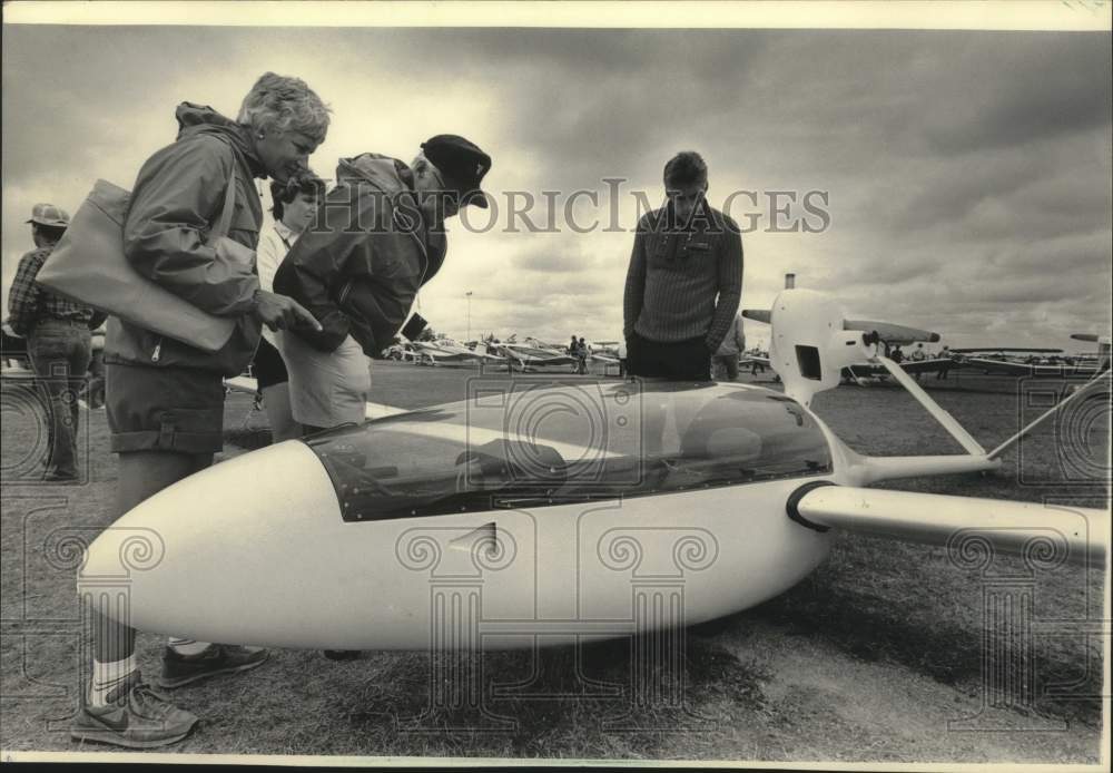
M 373 399 L 404 408 L 459 400 L 473 373 L 376 363 Z M 1053 383 L 1027 387 L 1022 394 L 934 394 L 988 448 L 1054 399 Z M 116 459 L 107 451 L 104 412 L 86 412 L 87 479 L 33 481 L 41 430 L 20 389 L 3 387 L 0 746 L 102 751 L 72 744 L 65 732 L 85 658 L 75 557 L 59 545 L 57 529 L 93 536 L 114 520 Z M 900 390 L 844 388 L 819 395 L 815 408 L 861 452 L 958 451 Z M 1109 417 L 1106 403 L 1091 401 L 1008 453 L 999 472 L 887 487 L 1104 507 Z M 229 395 L 221 456 L 267 442 L 265 421 L 248 395 Z M 1025 661 L 1031 692 L 1016 695 L 987 689 L 983 675 L 983 596 L 1008 576 L 1027 583 L 1034 597 Z M 1101 629 L 1105 580 L 1100 567 L 1032 574 L 1018 559 L 998 558 L 978 571 L 956 566 L 940 548 L 843 535 L 830 558 L 788 593 L 687 636 L 679 710 L 634 707 L 624 725 L 608 725 L 629 708 L 629 640 L 585 647 L 580 671 L 572 648 L 543 650 L 536 659 L 484 656 L 486 687 L 530 686 L 518 695 L 492 691 L 490 711 L 513 722 L 479 730 L 453 728 L 475 725 L 470 714 L 418 721 L 431 689 L 425 653 L 363 653 L 336 663 L 317 652 L 275 650 L 256 672 L 177 691 L 176 702 L 203 724 L 169 751 L 1097 763 L 1102 639 L 1085 632 Z M 1022 646 L 1012 642 L 1008 650 L 1017 655 Z M 157 637 L 140 636 L 139 659 L 150 676 L 160 647 Z

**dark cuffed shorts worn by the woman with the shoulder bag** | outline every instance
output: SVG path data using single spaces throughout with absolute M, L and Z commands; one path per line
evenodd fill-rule
M 108 363 L 105 408 L 115 453 L 216 453 L 224 448 L 219 373 Z

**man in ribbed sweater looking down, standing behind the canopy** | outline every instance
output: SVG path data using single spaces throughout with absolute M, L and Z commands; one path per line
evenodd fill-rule
M 641 218 L 622 302 L 631 375 L 710 381 L 711 354 L 738 312 L 742 238 L 738 224 L 707 203 L 698 153 L 664 165 L 663 207 Z

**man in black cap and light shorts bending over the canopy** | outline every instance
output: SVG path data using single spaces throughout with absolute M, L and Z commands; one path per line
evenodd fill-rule
M 275 290 L 323 329 L 282 339 L 294 419 L 307 432 L 363 422 L 371 358 L 441 270 L 444 222 L 469 204 L 489 206 L 480 183 L 490 168 L 491 157 L 456 135 L 431 137 L 408 166 L 373 153 L 341 159 L 321 227 L 302 235 L 275 275 Z

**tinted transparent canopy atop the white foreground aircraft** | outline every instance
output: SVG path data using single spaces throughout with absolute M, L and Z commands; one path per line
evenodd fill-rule
M 831 469 L 815 420 L 768 390 L 502 383 L 307 439 L 344 520 L 533 509 Z

